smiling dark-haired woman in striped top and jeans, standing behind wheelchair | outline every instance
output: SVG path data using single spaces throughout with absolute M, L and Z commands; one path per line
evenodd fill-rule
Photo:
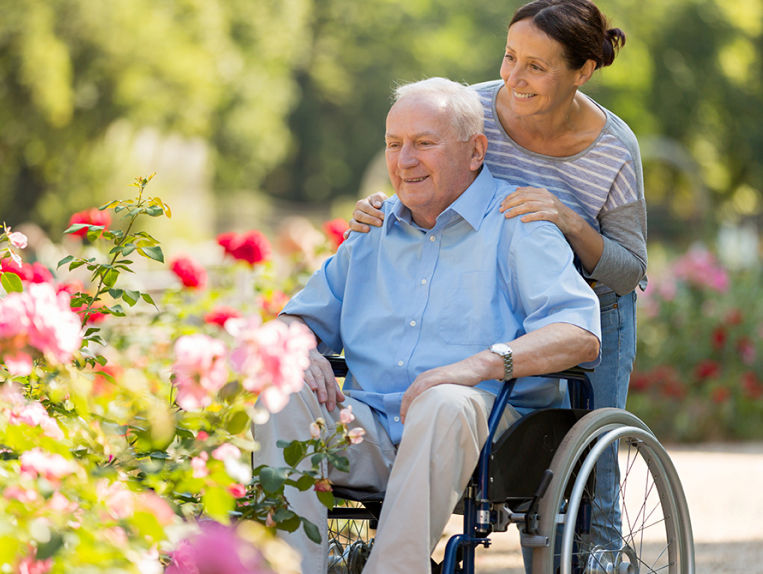
M 486 165 L 518 187 L 507 218 L 547 220 L 564 233 L 601 303 L 602 361 L 594 406 L 625 408 L 636 352 L 635 288 L 645 284 L 646 204 L 638 143 L 628 126 L 579 89 L 610 65 L 625 34 L 589 0 L 535 0 L 509 24 L 500 80 L 474 86 L 485 108 Z M 357 204 L 354 231 L 381 225 L 385 196 Z M 614 453 L 597 473 L 593 540 L 619 542 Z M 602 466 L 602 465 L 600 465 Z

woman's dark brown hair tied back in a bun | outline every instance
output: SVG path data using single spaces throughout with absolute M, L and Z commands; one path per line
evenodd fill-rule
M 604 14 L 590 0 L 534 0 L 514 13 L 509 28 L 528 18 L 564 47 L 565 58 L 575 70 L 587 60 L 596 62 L 596 69 L 609 66 L 625 45 L 625 33 L 607 28 Z

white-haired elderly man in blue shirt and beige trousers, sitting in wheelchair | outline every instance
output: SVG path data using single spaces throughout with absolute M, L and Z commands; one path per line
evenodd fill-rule
M 302 392 L 255 428 L 256 463 L 282 464 L 277 439 L 309 438 L 311 421 L 331 427 L 337 402 L 352 405 L 366 439 L 348 449 L 350 472 L 330 470 L 330 479 L 386 488 L 364 572 L 410 574 L 429 570 L 500 381 L 595 361 L 599 309 L 554 225 L 498 211 L 512 189 L 483 166 L 475 92 L 442 78 L 398 88 L 385 141 L 397 196 L 385 202 L 384 225 L 351 235 L 281 315 L 306 324 L 321 350 L 344 350 L 344 393 L 316 351 Z M 558 382 L 520 382 L 503 422 L 559 400 Z M 325 528 L 313 493 L 289 499 Z M 304 573 L 326 571 L 324 547 L 301 532 L 287 538 Z

